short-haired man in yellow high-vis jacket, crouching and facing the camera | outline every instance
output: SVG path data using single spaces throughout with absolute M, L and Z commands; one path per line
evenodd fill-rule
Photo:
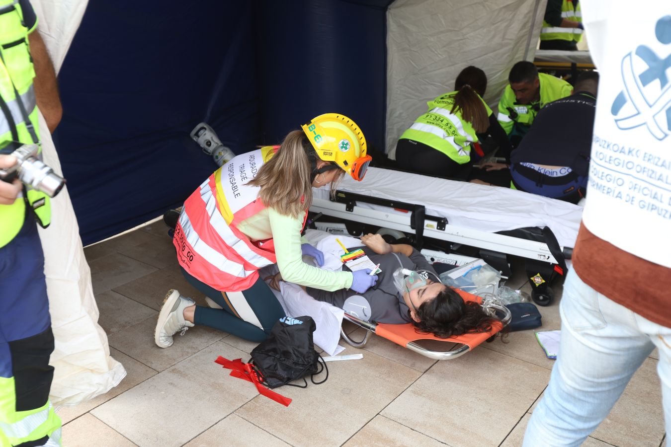
M 539 73 L 535 65 L 525 60 L 513 65 L 508 82 L 499 101 L 498 118 L 511 143 L 517 147 L 538 111 L 552 101 L 568 97 L 573 87 L 563 79 Z

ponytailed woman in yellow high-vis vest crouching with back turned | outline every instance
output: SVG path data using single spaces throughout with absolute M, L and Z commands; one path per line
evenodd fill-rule
M 396 146 L 399 166 L 434 177 L 465 179 L 478 133 L 491 134 L 499 154 L 509 155 L 510 142 L 482 99 L 486 88 L 487 76 L 480 68 L 464 68 L 454 91 L 429 101 L 428 111 L 401 135 Z

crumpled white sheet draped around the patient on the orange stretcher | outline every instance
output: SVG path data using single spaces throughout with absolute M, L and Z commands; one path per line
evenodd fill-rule
M 324 231 L 308 229 L 305 231 L 307 240 L 317 249 L 324 253 L 324 265 L 321 267 L 328 270 L 340 270 L 342 262 L 340 262 L 340 255 L 342 249 L 340 245 L 335 242 L 335 236 L 329 235 Z M 354 237 L 338 236 L 340 242 L 345 247 L 360 247 L 361 241 Z M 305 257 L 304 261 L 311 262 L 312 258 Z M 261 277 L 277 273 L 277 265 L 270 265 L 260 272 Z M 308 315 L 315 320 L 317 329 L 313 334 L 313 340 L 317 346 L 325 350 L 328 355 L 338 355 L 344 350 L 340 346 L 340 326 L 342 326 L 342 318 L 344 311 L 332 304 L 317 301 L 309 296 L 303 289 L 294 283 L 280 282 L 281 293 L 272 290 L 277 300 L 282 304 L 285 314 L 293 317 Z M 352 292 L 354 295 L 354 292 Z

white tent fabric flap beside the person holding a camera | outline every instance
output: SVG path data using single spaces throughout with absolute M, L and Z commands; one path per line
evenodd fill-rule
M 38 30 L 60 69 L 74 33 L 81 23 L 87 0 L 32 0 Z M 60 162 L 44 117 L 40 114 L 44 162 L 62 174 Z M 50 364 L 56 369 L 51 387 L 54 406 L 75 405 L 106 393 L 125 377 L 121 363 L 109 356 L 107 335 L 97 324 L 91 271 L 84 257 L 72 202 L 67 188 L 52 200 L 52 222 L 40 229 L 44 249 L 44 274 L 56 348 Z

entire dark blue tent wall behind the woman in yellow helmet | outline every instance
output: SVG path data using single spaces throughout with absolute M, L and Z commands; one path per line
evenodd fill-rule
M 383 147 L 388 0 L 91 1 L 59 74 L 54 134 L 85 245 L 178 206 L 216 168 L 320 113 Z

